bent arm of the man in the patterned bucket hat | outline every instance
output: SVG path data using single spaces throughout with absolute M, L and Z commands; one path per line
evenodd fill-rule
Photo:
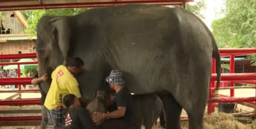
M 123 117 L 127 107 L 127 94 L 121 94 L 116 98 L 117 110 L 104 114 L 104 118 L 120 118 Z

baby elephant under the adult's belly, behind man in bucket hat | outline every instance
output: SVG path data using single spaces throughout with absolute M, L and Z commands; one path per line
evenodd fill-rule
M 141 129 L 141 123 L 144 123 L 145 129 L 151 129 L 161 111 L 164 111 L 161 99 L 155 94 L 132 95 L 132 101 L 135 119 L 134 129 Z

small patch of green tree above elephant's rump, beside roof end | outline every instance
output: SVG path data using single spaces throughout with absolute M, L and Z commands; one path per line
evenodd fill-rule
M 205 19 L 204 15 L 200 12 L 206 9 L 205 0 L 194 2 L 193 4 L 187 3 L 187 10 L 195 13 L 199 18 Z

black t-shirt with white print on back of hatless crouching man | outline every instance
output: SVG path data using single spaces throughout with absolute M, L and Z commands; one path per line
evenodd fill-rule
M 65 129 L 96 129 L 90 114 L 83 108 L 69 108 L 66 119 Z

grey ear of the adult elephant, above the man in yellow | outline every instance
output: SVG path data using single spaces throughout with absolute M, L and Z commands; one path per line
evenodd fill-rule
M 50 19 L 49 22 L 52 23 L 52 33 L 54 34 L 55 41 L 58 42 L 62 57 L 65 59 L 68 56 L 71 37 L 71 28 L 68 19 L 67 17 L 55 17 Z

